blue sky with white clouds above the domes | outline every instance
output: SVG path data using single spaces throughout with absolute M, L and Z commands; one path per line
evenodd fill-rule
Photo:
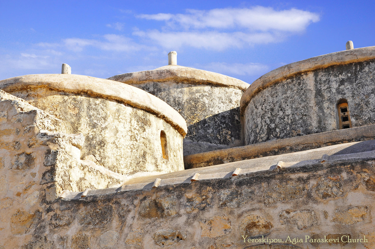
M 0 79 L 99 78 L 177 64 L 252 83 L 282 65 L 375 45 L 375 1 L 0 1 Z

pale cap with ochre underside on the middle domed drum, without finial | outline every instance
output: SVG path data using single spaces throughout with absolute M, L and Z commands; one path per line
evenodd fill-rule
M 176 81 L 191 83 L 196 85 L 213 85 L 238 88 L 245 91 L 249 84 L 239 79 L 214 73 L 210 71 L 183 67 L 178 65 L 169 65 L 159 67 L 154 70 L 140 71 L 133 73 L 124 73 L 108 78 L 126 84 L 142 84 L 147 82 L 166 82 Z

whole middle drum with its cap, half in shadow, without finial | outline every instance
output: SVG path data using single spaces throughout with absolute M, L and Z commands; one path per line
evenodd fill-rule
M 242 145 L 239 103 L 248 83 L 177 65 L 109 79 L 141 88 L 183 116 L 188 130 L 184 155 Z

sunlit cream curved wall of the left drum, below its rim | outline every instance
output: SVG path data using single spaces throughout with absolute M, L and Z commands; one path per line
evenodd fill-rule
M 15 91 L 33 106 L 65 121 L 68 133 L 82 133 L 82 159 L 116 173 L 173 172 L 183 169 L 182 136 L 153 114 L 123 103 L 48 89 Z M 168 143 L 162 157 L 160 132 Z

